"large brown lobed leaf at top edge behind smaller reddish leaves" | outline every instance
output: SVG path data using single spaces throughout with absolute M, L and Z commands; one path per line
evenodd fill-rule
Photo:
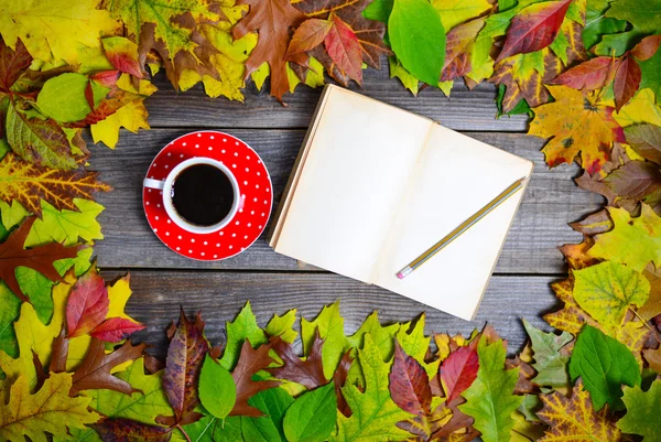
M 356 35 L 360 47 L 360 60 L 368 66 L 378 69 L 381 67 L 381 55 L 389 54 L 390 51 L 383 44 L 386 25 L 378 21 L 368 20 L 362 15 L 362 11 L 370 2 L 371 0 L 301 0 L 295 2 L 294 7 L 313 19 L 329 20 L 330 14 L 337 17 Z M 345 32 L 347 32 L 347 29 L 345 29 Z M 322 46 L 313 48 L 310 55 L 318 60 L 328 72 L 328 75 L 344 86 L 348 85 L 350 78 L 362 78 L 362 74 L 358 74 L 355 66 L 353 66 L 354 76 L 343 71 L 330 56 L 330 53 Z

